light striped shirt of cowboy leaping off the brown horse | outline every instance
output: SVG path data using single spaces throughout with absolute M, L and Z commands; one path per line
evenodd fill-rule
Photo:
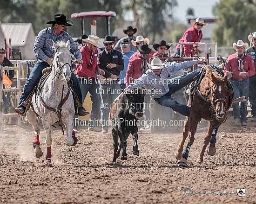
M 148 94 L 153 98 L 161 98 L 169 92 L 168 84 L 176 83 L 174 78 L 171 79 L 173 71 L 186 69 L 192 67 L 194 64 L 196 64 L 196 60 L 182 63 L 168 62 L 162 68 L 160 77 L 156 76 L 151 69 L 148 69 L 140 78 L 135 80 L 134 83 L 130 83 L 124 90 L 140 89 L 143 87 L 146 90 L 154 88 L 154 91 Z

